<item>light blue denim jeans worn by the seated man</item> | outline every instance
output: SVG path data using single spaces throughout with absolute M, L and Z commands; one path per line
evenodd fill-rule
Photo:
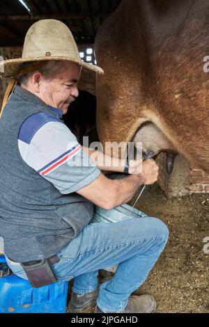
M 169 230 L 157 218 L 129 205 L 111 210 L 95 206 L 93 220 L 57 255 L 59 280 L 74 278 L 73 292 L 86 294 L 98 288 L 98 270 L 118 264 L 114 277 L 100 286 L 98 307 L 120 312 L 130 294 L 144 283 L 167 244 Z M 111 224 L 110 224 L 111 223 Z M 20 264 L 7 260 L 17 276 L 26 278 Z

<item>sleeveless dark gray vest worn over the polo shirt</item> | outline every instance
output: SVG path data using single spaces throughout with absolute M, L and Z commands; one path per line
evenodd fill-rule
M 17 262 L 55 255 L 93 216 L 91 202 L 77 193 L 61 194 L 22 159 L 20 127 L 38 112 L 56 116 L 38 97 L 16 86 L 0 120 L 0 236 L 5 254 Z

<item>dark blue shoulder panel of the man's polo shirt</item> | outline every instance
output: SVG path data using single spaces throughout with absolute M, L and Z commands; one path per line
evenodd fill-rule
M 18 140 L 29 144 L 33 136 L 38 131 L 40 131 L 43 127 L 50 127 L 54 122 L 58 123 L 56 124 L 56 126 L 58 125 L 59 129 L 65 128 L 63 122 L 59 118 L 54 117 L 54 115 L 51 115 L 50 113 L 33 113 L 33 115 L 30 115 L 29 118 L 26 118 L 26 120 L 24 120 L 24 122 L 22 123 L 18 134 Z M 52 126 L 54 131 L 54 124 Z

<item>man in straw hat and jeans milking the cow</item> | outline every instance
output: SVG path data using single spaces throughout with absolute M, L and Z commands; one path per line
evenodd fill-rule
M 61 117 L 78 96 L 82 65 L 102 73 L 81 61 L 68 27 L 54 19 L 33 24 L 22 58 L 4 62 L 3 76 L 20 80 L 0 120 L 0 228 L 7 261 L 22 278 L 28 275 L 20 263 L 43 259 L 59 280 L 74 278 L 72 312 L 88 311 L 96 301 L 95 312 L 154 312 L 153 296 L 130 294 L 162 253 L 168 229 L 143 214 L 121 218 L 114 208 L 142 184 L 154 183 L 158 167 L 153 160 L 142 168 L 131 161 L 130 176 L 110 180 L 100 169 L 123 172 L 125 160 L 116 166 L 112 159 L 107 167 L 102 152 L 93 162 L 93 151 L 77 143 Z M 118 222 L 94 222 L 109 216 Z M 115 264 L 114 278 L 99 290 L 98 269 Z

